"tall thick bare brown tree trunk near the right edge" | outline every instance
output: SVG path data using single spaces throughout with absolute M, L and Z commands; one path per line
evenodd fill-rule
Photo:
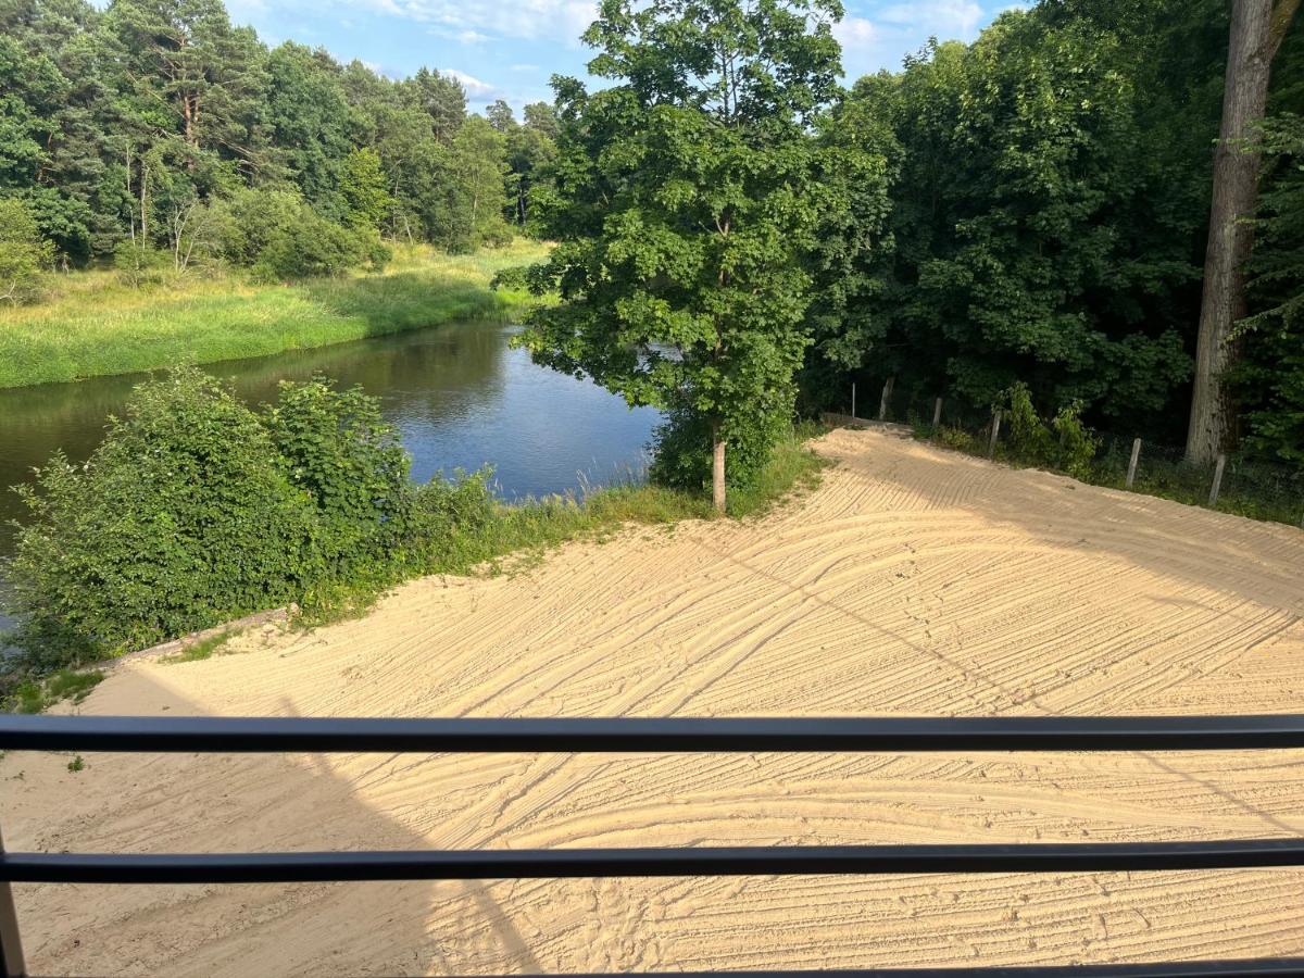
M 1196 343 L 1196 382 L 1187 459 L 1209 463 L 1226 447 L 1232 411 L 1222 376 L 1231 364 L 1231 331 L 1247 313 L 1245 262 L 1253 248 L 1258 201 L 1257 124 L 1267 106 L 1273 56 L 1300 0 L 1234 0 L 1222 129 L 1205 252 L 1204 297 Z

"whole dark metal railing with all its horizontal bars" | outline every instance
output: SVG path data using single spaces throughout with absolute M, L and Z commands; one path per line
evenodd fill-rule
M 0 750 L 134 752 L 977 752 L 1304 748 L 1304 716 L 364 720 L 0 716 Z M 13 883 L 306 883 L 602 876 L 1104 872 L 1304 866 L 1304 838 L 1206 842 L 726 846 L 222 854 L 7 853 L 0 952 L 26 975 Z M 1304 914 L 1300 926 L 1304 928 Z M 730 973 L 730 974 L 758 974 Z M 775 973 L 771 973 L 775 974 Z M 1304 975 L 1304 958 L 825 971 L 940 975 Z

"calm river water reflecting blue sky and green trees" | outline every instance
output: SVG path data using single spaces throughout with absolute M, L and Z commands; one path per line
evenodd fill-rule
M 490 464 L 498 493 L 527 496 L 601 485 L 642 473 L 660 415 L 630 409 L 601 387 L 531 363 L 511 349 L 512 326 L 455 323 L 319 349 L 203 369 L 227 378 L 250 404 L 274 400 L 276 382 L 321 370 L 343 386 L 361 385 L 381 399 L 412 454 L 412 475 Z M 55 450 L 86 459 L 106 419 L 120 413 L 142 376 L 0 390 L 0 488 L 31 479 Z M 22 507 L 0 492 L 0 557 L 13 549 L 8 522 Z M 0 630 L 8 622 L 0 617 Z

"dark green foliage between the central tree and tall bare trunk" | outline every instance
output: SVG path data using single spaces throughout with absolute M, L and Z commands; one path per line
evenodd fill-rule
M 970 411 L 1024 379 L 1179 439 L 1226 7 L 1043 0 L 859 80 L 822 136 L 891 209 L 879 232 L 871 179 L 867 216 L 823 237 L 812 406 L 857 369 Z

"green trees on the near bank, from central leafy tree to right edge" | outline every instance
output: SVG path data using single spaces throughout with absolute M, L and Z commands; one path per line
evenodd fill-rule
M 665 409 L 664 477 L 709 439 L 719 498 L 857 378 L 1297 464 L 1297 5 L 1042 0 L 845 87 L 836 0 L 609 0 L 527 342 Z

